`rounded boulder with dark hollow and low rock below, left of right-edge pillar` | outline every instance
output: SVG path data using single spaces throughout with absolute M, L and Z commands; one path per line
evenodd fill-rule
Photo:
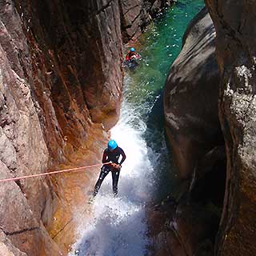
M 204 8 L 190 22 L 166 79 L 166 134 L 182 184 L 178 198 L 149 214 L 157 256 L 214 255 L 226 181 L 215 39 Z

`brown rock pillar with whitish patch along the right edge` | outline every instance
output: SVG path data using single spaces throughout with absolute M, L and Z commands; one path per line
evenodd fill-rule
M 207 0 L 217 32 L 219 114 L 226 141 L 227 181 L 218 255 L 256 254 L 255 1 Z

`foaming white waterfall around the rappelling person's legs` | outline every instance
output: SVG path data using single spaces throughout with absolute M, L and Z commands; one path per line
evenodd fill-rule
M 80 239 L 69 255 L 142 256 L 149 255 L 146 202 L 154 193 L 151 150 L 142 135 L 146 124 L 134 105 L 122 103 L 121 117 L 111 137 L 126 153 L 118 183 L 118 198 L 112 196 L 112 178 L 108 174 L 92 205 L 93 217 L 78 230 Z M 96 182 L 96 181 L 95 181 Z

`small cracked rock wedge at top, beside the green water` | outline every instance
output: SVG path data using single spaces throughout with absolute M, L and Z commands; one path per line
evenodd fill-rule
M 173 0 L 127 0 L 120 1 L 122 36 L 124 42 L 136 39 L 152 18 Z

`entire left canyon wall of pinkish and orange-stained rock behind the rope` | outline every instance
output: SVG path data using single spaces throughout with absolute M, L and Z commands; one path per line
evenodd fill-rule
M 168 5 L 0 2 L 0 178 L 101 161 L 122 98 L 122 42 Z M 81 208 L 95 174 L 1 183 L 1 254 L 65 254 L 74 207 Z

